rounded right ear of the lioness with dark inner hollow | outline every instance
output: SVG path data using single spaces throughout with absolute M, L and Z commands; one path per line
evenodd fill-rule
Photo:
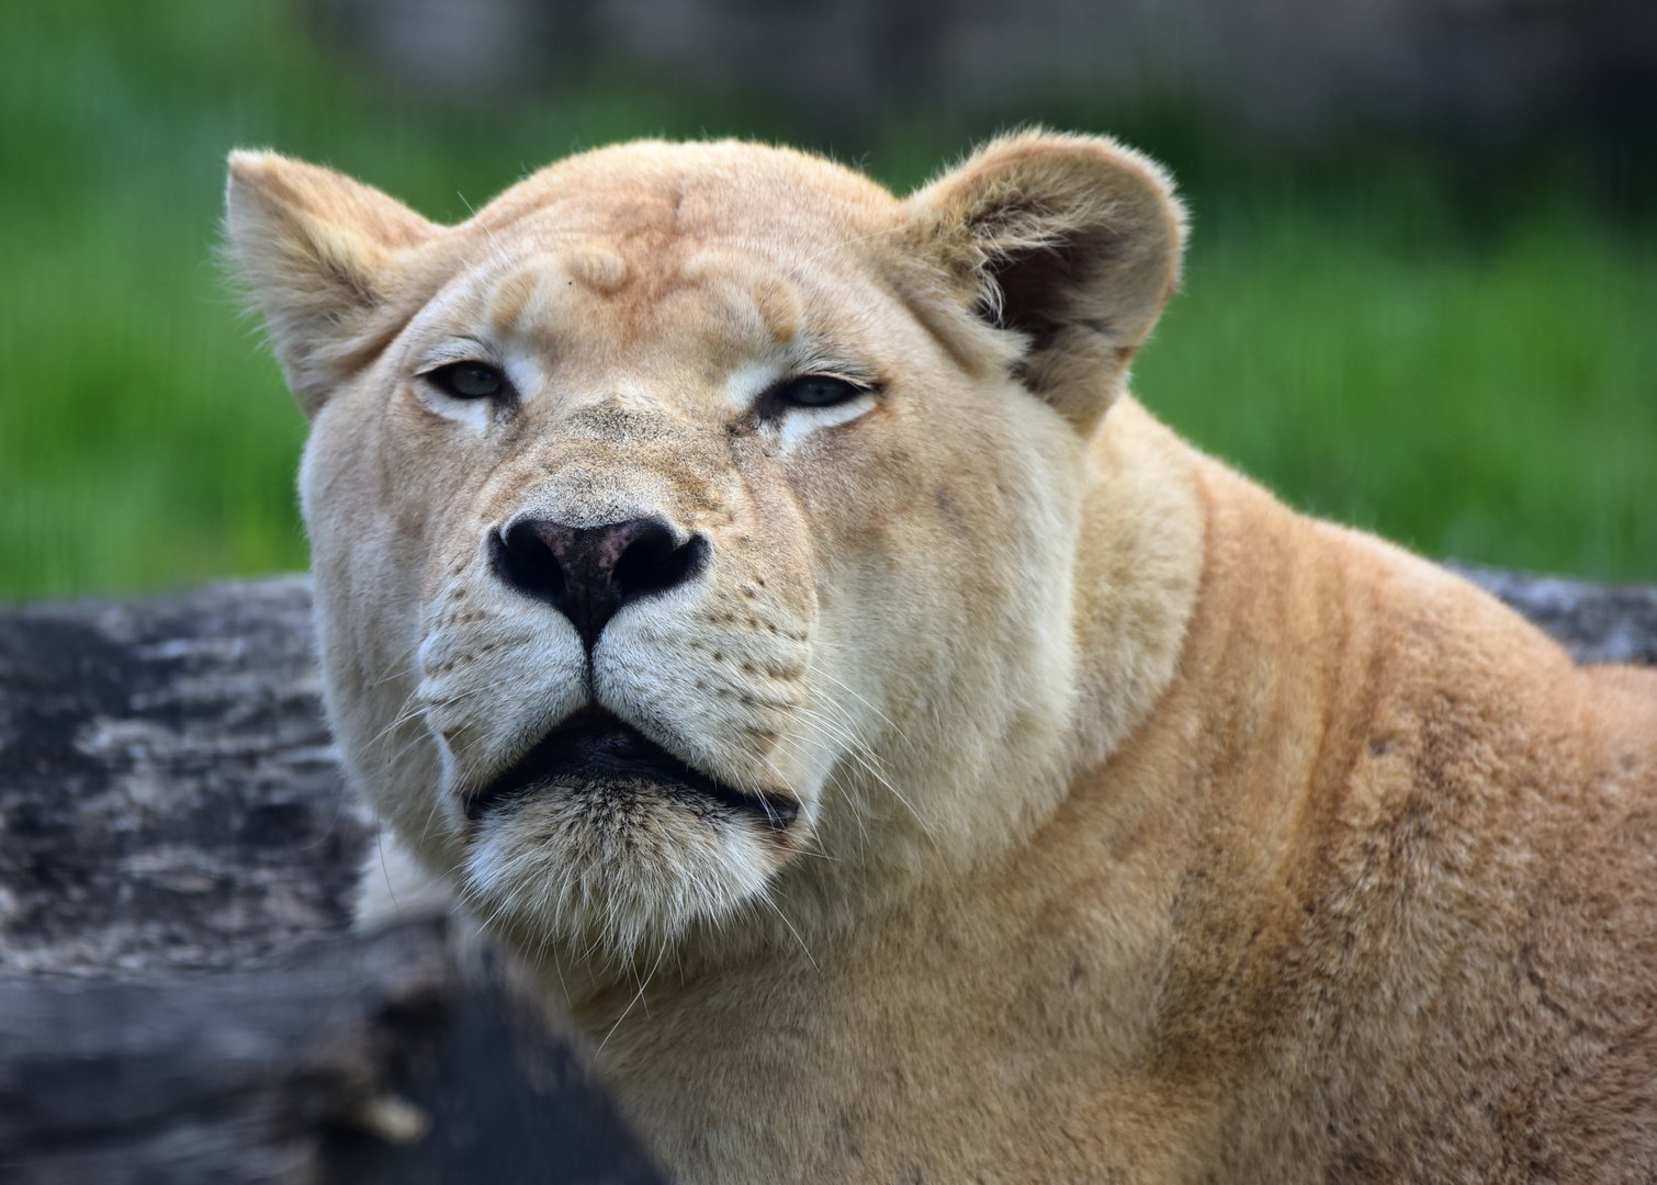
M 1162 167 L 1105 138 L 1022 133 L 910 207 L 956 298 L 1022 336 L 1024 385 L 1092 431 L 1178 287 L 1185 210 Z

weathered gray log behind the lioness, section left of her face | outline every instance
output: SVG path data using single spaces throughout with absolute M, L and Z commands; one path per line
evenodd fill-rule
M 338 933 L 371 835 L 303 577 L 0 612 L 0 973 L 227 966 Z

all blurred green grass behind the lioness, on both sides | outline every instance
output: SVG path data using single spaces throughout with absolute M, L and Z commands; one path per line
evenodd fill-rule
M 800 136 L 631 81 L 419 104 L 295 13 L 0 8 L 0 597 L 305 563 L 303 421 L 212 262 L 229 148 L 330 162 L 457 219 L 590 144 Z M 1649 210 L 1607 209 L 1568 154 L 1470 197 L 1470 169 L 1428 149 L 1269 156 L 1188 119 L 1052 111 L 1123 131 L 1186 184 L 1186 292 L 1137 366 L 1153 411 L 1296 504 L 1432 555 L 1657 580 Z M 857 159 L 901 189 L 978 131 L 893 124 Z

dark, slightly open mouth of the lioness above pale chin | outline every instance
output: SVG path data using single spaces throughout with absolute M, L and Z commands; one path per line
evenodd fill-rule
M 600 708 L 570 716 L 543 736 L 517 764 L 466 799 L 466 817 L 477 822 L 490 810 L 553 787 L 616 791 L 651 787 L 684 794 L 708 805 L 757 815 L 782 830 L 799 815 L 787 794 L 749 794 L 679 761 L 636 728 Z

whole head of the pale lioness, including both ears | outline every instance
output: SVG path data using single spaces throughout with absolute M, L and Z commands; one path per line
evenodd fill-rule
M 229 222 L 350 771 L 497 926 L 631 958 L 1041 814 L 1085 434 L 1173 282 L 1143 161 L 1027 136 L 900 202 L 635 144 L 439 229 L 242 154 Z

